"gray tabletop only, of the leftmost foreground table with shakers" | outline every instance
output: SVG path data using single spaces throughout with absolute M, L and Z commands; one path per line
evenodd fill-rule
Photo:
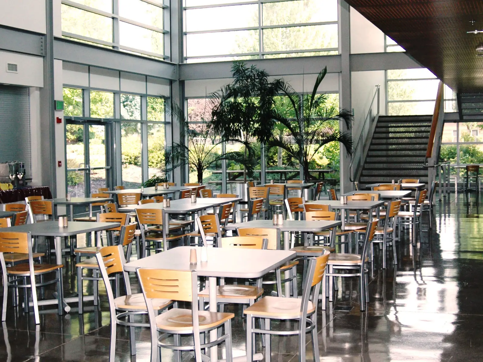
M 7 227 L 2 231 L 31 233 L 34 237 L 70 237 L 72 235 L 90 233 L 92 231 L 107 230 L 112 227 L 118 227 L 119 225 L 119 223 L 71 221 L 69 222 L 69 226 L 59 227 L 57 221 L 44 221 L 42 223 Z

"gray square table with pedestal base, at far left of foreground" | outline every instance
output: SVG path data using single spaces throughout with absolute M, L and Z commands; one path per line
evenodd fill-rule
M 113 227 L 120 226 L 119 223 L 97 223 L 97 222 L 85 222 L 85 221 L 73 221 L 69 222 L 66 227 L 59 227 L 57 221 L 44 221 L 41 223 L 32 223 L 19 226 L 12 226 L 2 229 L 5 232 L 21 232 L 30 233 L 32 237 L 55 237 L 55 249 L 56 249 L 56 264 L 62 264 L 62 247 L 61 238 L 71 237 L 77 234 L 91 233 L 93 231 L 102 231 L 111 229 Z M 62 273 L 60 274 L 59 283 L 61 285 L 60 291 L 63 291 Z M 71 308 L 67 303 L 77 302 L 79 299 L 64 298 L 63 295 L 57 296 L 57 300 L 39 300 L 38 305 L 43 306 L 47 304 L 59 304 L 59 315 L 62 314 L 62 303 L 66 304 L 65 310 L 68 312 Z

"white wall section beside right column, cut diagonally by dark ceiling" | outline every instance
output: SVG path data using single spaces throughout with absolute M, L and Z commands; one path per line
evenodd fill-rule
M 384 33 L 351 7 L 351 54 L 383 53 Z

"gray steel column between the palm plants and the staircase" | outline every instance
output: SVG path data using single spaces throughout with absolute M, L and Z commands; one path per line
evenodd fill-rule
M 339 0 L 339 53 L 341 54 L 341 74 L 339 76 L 339 102 L 341 108 L 352 110 L 351 102 L 351 69 L 350 69 L 350 14 L 349 4 Z M 341 131 L 346 131 L 346 125 L 340 123 Z M 349 180 L 349 165 L 351 158 L 341 145 L 341 194 L 353 190 Z

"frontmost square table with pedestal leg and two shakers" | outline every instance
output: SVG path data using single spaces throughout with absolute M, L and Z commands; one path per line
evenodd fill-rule
M 190 250 L 197 251 L 197 264 L 189 263 Z M 256 250 L 208 248 L 208 261 L 201 262 L 201 248 L 180 246 L 160 252 L 124 265 L 127 272 L 137 268 L 158 268 L 173 270 L 196 270 L 201 277 L 208 277 L 210 311 L 217 311 L 216 278 L 261 278 L 270 270 L 292 260 L 296 253 L 284 250 Z M 210 340 L 215 340 L 216 330 L 210 332 Z M 217 361 L 217 346 L 211 348 L 211 361 Z

